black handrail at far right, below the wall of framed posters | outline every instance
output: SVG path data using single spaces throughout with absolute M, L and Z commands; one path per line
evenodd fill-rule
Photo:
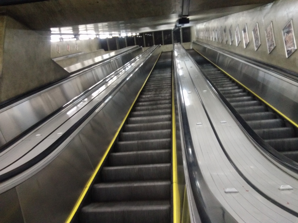
M 199 41 L 193 41 L 194 43 L 198 44 L 198 45 L 202 45 L 202 46 L 205 46 L 207 48 L 210 48 L 212 50 L 215 50 L 219 53 L 224 53 L 224 54 L 227 54 L 229 56 L 232 56 L 232 57 L 236 57 L 237 59 L 240 59 L 240 60 L 243 60 L 245 61 L 246 63 L 251 63 L 257 67 L 260 67 L 260 68 L 263 68 L 265 70 L 268 70 L 268 71 L 272 71 L 278 75 L 281 75 L 281 76 L 284 76 L 284 77 L 287 77 L 293 81 L 296 81 L 298 82 L 298 73 L 296 72 L 293 72 L 293 71 L 290 71 L 290 70 L 287 70 L 285 68 L 281 68 L 281 67 L 278 67 L 278 66 L 275 66 L 275 65 L 269 65 L 267 63 L 264 63 L 262 61 L 259 61 L 259 60 L 256 60 L 256 59 L 252 59 L 252 58 L 249 58 L 249 57 L 246 57 L 246 56 L 243 56 L 243 55 L 239 55 L 237 53 L 232 53 L 232 52 L 229 52 L 227 50 L 223 50 L 223 49 L 220 49 L 218 47 L 215 47 L 215 46 L 211 46 L 211 45 L 208 45 L 206 43 L 202 43 L 202 42 L 199 42 Z

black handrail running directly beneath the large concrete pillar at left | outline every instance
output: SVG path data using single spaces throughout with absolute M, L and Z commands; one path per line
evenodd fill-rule
M 5 100 L 5 101 L 3 101 L 3 102 L 0 103 L 0 110 L 3 109 L 3 108 L 5 108 L 5 107 L 7 107 L 7 106 L 9 106 L 9 105 L 11 105 L 11 104 L 13 104 L 13 103 L 18 102 L 18 101 L 20 101 L 20 100 L 22 100 L 22 99 L 24 99 L 24 98 L 30 97 L 31 95 L 37 94 L 37 93 L 40 92 L 40 91 L 43 91 L 43 90 L 45 90 L 45 89 L 47 89 L 47 88 L 50 88 L 50 87 L 52 87 L 52 86 L 54 86 L 54 85 L 57 85 L 57 84 L 59 84 L 59 83 L 61 83 L 61 82 L 63 82 L 63 81 L 66 81 L 66 80 L 68 80 L 68 79 L 70 79 L 70 78 L 73 78 L 73 77 L 75 77 L 75 76 L 77 76 L 77 75 L 80 75 L 80 74 L 82 74 L 82 73 L 84 73 L 84 72 L 88 72 L 89 70 L 94 69 L 94 68 L 96 68 L 96 67 L 98 67 L 98 66 L 101 66 L 102 64 L 107 63 L 107 62 L 109 62 L 110 60 L 115 60 L 115 59 L 117 59 L 118 57 L 122 57 L 122 56 L 124 56 L 125 54 L 128 54 L 128 53 L 130 53 L 130 52 L 132 52 L 132 51 L 134 51 L 134 50 L 137 50 L 138 48 L 140 48 L 140 47 L 134 47 L 134 48 L 130 49 L 129 51 L 126 51 L 126 52 L 123 52 L 123 53 L 121 53 L 121 54 L 118 54 L 118 55 L 115 55 L 115 56 L 112 56 L 112 57 L 103 59 L 103 60 L 100 61 L 100 62 L 93 63 L 93 64 L 91 64 L 91 65 L 88 65 L 87 67 L 84 67 L 84 68 L 81 68 L 81 69 L 79 69 L 79 70 L 77 70 L 77 71 L 71 72 L 71 73 L 69 73 L 69 76 L 64 77 L 64 78 L 62 78 L 62 79 L 60 79 L 60 80 L 52 81 L 52 82 L 50 82 L 50 83 L 47 83 L 47 84 L 38 86 L 38 87 L 36 87 L 36 88 L 34 88 L 34 89 L 32 89 L 32 90 L 29 90 L 29 91 L 27 91 L 27 92 L 25 92 L 25 93 L 22 93 L 22 94 L 19 94 L 19 95 L 13 97 L 13 98 L 7 99 L 7 100 Z M 65 72 L 66 72 L 66 71 L 65 71 Z

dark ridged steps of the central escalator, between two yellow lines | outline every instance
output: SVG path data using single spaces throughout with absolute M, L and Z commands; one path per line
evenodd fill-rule
M 81 223 L 171 222 L 172 54 L 160 55 L 106 164 Z

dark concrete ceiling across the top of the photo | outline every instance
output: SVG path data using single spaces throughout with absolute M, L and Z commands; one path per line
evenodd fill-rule
M 189 25 L 269 2 L 272 0 L 191 0 Z M 11 16 L 29 28 L 68 27 L 62 30 L 74 33 L 83 28 L 95 33 L 171 29 L 181 11 L 182 0 L 48 0 L 0 7 L 1 15 Z

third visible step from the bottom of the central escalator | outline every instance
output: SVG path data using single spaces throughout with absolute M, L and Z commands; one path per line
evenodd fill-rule
M 104 182 L 170 180 L 171 164 L 146 164 L 102 168 Z

